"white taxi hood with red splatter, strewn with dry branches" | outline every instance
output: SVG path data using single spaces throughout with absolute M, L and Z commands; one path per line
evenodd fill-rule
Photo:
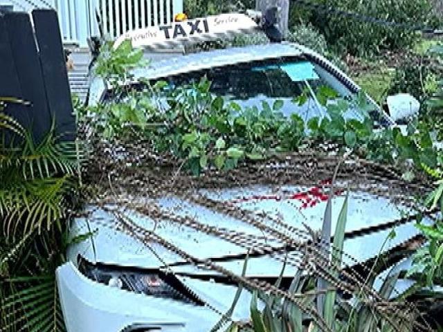
M 254 185 L 223 190 L 199 190 L 198 194 L 203 203 L 190 196 L 173 195 L 150 200 L 133 199 L 138 202 L 137 206 L 155 206 L 164 214 L 162 219 L 147 216 L 140 210 L 123 209 L 113 203 L 107 206 L 89 205 L 85 216 L 73 221 L 71 237 L 82 241 L 72 241 L 68 256 L 74 264 L 80 255 L 93 263 L 138 268 L 169 266 L 176 273 L 184 275 L 210 274 L 188 264 L 183 257 L 159 243 L 151 242 L 147 246 L 134 239 L 131 234 L 118 227 L 118 216 L 124 216 L 138 227 L 154 232 L 192 257 L 211 259 L 237 274 L 242 272 L 247 252 L 245 246 L 235 241 L 235 234 L 241 234 L 243 238 L 255 241 L 254 243 L 266 244 L 275 249 L 274 258 L 266 255 L 250 257 L 246 275 L 279 275 L 282 260 L 275 257 L 284 257 L 283 250 L 279 251 L 284 247 L 284 243 L 240 217 L 210 208 L 207 203 L 221 203 L 225 207 L 240 208 L 253 219 L 260 219 L 266 214 L 269 216 L 266 223 L 273 228 L 291 233 L 298 241 L 309 241 L 309 232 L 315 232 L 322 227 L 328 199 L 325 192 L 326 189 L 322 186 Z M 335 192 L 332 199 L 332 234 L 346 194 L 349 195 L 349 201 L 343 250 L 350 254 L 343 257 L 346 265 L 372 259 L 379 255 L 379 252 L 394 248 L 418 234 L 415 220 L 405 218 L 413 213 L 406 206 L 364 190 Z M 168 219 L 168 216 L 171 218 Z M 190 227 L 190 223 L 185 225 L 177 220 L 195 221 L 206 228 L 197 230 Z M 277 220 L 280 222 L 276 223 Z M 212 232 L 208 230 L 230 234 L 230 237 L 221 238 L 208 234 Z M 284 275 L 293 275 L 294 269 L 286 268 Z

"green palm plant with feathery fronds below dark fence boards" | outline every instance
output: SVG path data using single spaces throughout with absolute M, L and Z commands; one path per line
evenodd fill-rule
M 64 331 L 55 287 L 78 150 L 54 127 L 35 142 L 0 98 L 0 331 Z

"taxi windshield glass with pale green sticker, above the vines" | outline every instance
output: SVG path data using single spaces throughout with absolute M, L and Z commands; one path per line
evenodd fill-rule
M 211 82 L 210 91 L 227 101 L 243 108 L 261 108 L 264 102 L 272 107 L 276 100 L 281 100 L 280 111 L 284 116 L 297 113 L 303 120 L 323 117 L 325 104 L 352 95 L 331 73 L 306 59 L 234 64 L 175 75 L 167 81 L 174 88 L 197 82 L 204 76 Z

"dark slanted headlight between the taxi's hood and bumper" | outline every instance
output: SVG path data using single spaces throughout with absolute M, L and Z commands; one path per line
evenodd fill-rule
M 177 277 L 161 270 L 92 264 L 82 257 L 78 259 L 78 270 L 94 282 L 110 287 L 199 306 L 204 305 L 204 302 L 189 291 Z

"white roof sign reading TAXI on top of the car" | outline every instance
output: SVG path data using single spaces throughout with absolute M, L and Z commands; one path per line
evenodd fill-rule
M 221 35 L 251 33 L 257 28 L 255 21 L 246 15 L 221 14 L 128 31 L 118 37 L 114 47 L 120 45 L 125 39 L 131 39 L 134 47 L 168 47 L 185 42 L 216 39 Z

